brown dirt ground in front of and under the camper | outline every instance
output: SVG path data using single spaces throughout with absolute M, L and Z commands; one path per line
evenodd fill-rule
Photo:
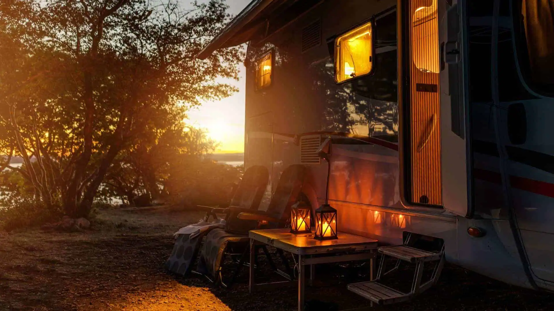
M 173 232 L 201 216 L 167 206 L 105 209 L 85 232 L 0 232 L 0 310 L 294 310 L 295 288 L 251 296 L 245 270 L 230 290 L 203 277 L 182 279 L 163 271 Z M 356 278 L 363 272 L 354 274 Z M 323 286 L 307 288 L 307 300 L 319 298 L 342 309 L 368 305 L 346 290 L 351 269 L 319 267 L 317 276 Z M 508 286 L 449 265 L 439 284 L 412 302 L 376 308 L 552 309 L 554 294 Z

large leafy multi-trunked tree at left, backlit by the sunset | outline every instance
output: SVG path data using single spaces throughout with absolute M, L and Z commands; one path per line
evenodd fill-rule
M 0 69 L 0 153 L 24 158 L 11 169 L 35 199 L 88 215 L 119 154 L 138 152 L 188 107 L 232 94 L 214 79 L 238 78 L 240 48 L 196 59 L 229 20 L 226 9 L 223 0 L 189 9 L 175 0 L 4 4 L 0 56 L 15 61 Z

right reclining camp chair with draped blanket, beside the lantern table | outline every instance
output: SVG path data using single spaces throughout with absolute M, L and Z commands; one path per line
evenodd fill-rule
M 201 270 L 199 272 L 214 283 L 219 282 L 224 287 L 230 287 L 239 274 L 240 269 L 244 266 L 244 261 L 245 258 L 248 257 L 248 252 L 253 251 L 257 254 L 260 248 L 268 258 L 270 266 L 275 271 L 279 272 L 273 260 L 271 260 L 271 256 L 265 245 L 257 246 L 254 250 L 249 249 L 250 239 L 248 237 L 248 231 L 285 227 L 289 219 L 290 208 L 296 202 L 297 198 L 299 198 L 305 175 L 306 168 L 304 165 L 294 164 L 286 168 L 279 178 L 279 183 L 266 211 L 230 206 L 229 217 L 225 224 L 225 229 L 214 229 L 206 236 L 206 241 L 204 242 L 198 264 L 199 270 Z M 238 226 L 234 225 L 234 222 L 237 221 L 254 221 L 255 224 L 250 227 L 241 226 L 240 229 L 237 230 Z M 278 255 L 281 257 L 287 270 L 288 275 L 286 276 L 292 278 L 293 271 L 288 266 L 288 261 L 283 251 L 278 250 Z M 238 262 L 238 267 L 231 281 L 225 284 L 223 282 L 222 263 L 227 256 L 231 256 L 235 262 Z M 257 258 L 257 256 L 255 258 Z M 249 264 L 255 265 L 255 262 Z

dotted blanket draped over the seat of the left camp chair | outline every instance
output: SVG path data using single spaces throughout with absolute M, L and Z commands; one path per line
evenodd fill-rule
M 216 222 L 199 221 L 197 224 L 179 229 L 174 234 L 176 237 L 175 245 L 166 262 L 166 270 L 186 276 L 196 261 L 203 237 L 213 229 L 224 229 L 224 227 L 225 221 L 218 220 Z

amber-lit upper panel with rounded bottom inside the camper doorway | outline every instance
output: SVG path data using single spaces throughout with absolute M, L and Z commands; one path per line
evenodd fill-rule
M 419 1 L 412 17 L 412 59 L 423 72 L 439 72 L 437 0 Z M 424 3 L 430 4 L 425 6 Z

